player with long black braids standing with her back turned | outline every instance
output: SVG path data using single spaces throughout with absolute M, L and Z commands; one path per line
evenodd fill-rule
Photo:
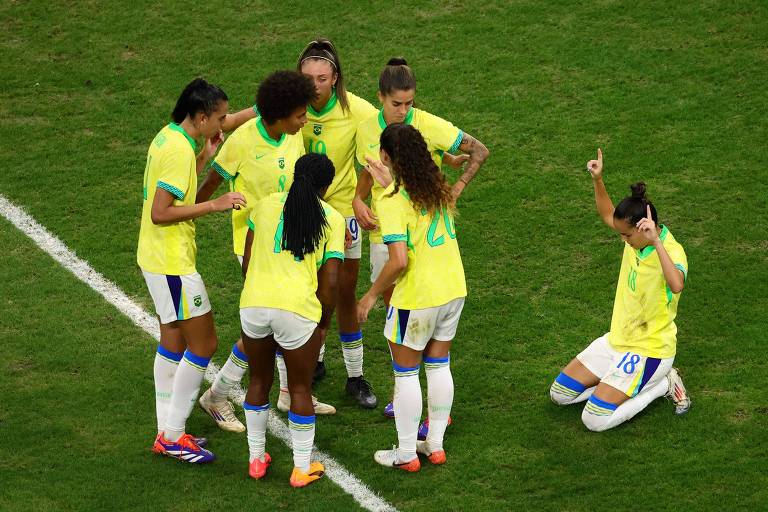
M 333 163 L 325 155 L 299 158 L 288 192 L 268 195 L 253 206 L 243 257 L 240 323 L 250 370 L 243 404 L 249 474 L 261 478 L 271 462 L 265 443 L 279 346 L 291 395 L 293 487 L 304 487 L 324 472 L 322 464 L 310 462 L 315 438 L 311 388 L 321 333 L 331 320 L 344 260 L 344 217 L 320 199 L 333 177 Z

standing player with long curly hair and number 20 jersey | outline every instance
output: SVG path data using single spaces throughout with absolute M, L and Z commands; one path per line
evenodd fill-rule
M 377 451 L 374 459 L 415 472 L 421 468 L 417 452 L 433 464 L 446 460 L 443 436 L 453 404 L 450 348 L 467 295 L 453 210 L 455 196 L 471 176 L 451 189 L 424 138 L 412 126 L 390 124 L 380 143 L 381 161 L 369 158 L 367 169 L 386 187 L 377 211 L 389 258 L 360 299 L 358 316 L 361 322 L 367 319 L 377 297 L 395 284 L 384 336 L 395 373 L 399 446 Z M 417 441 L 422 361 L 427 373 L 429 433 L 425 441 Z

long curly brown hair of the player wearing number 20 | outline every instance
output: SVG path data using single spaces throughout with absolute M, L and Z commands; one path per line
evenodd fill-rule
M 416 128 L 393 123 L 381 133 L 379 142 L 392 159 L 395 189 L 391 195 L 397 194 L 402 186 L 417 209 L 431 215 L 443 208 L 454 211 L 451 186 Z

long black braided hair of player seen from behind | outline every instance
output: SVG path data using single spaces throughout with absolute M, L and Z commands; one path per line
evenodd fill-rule
M 319 153 L 307 153 L 296 161 L 293 184 L 283 206 L 282 248 L 296 258 L 315 252 L 328 226 L 320 195 L 335 176 L 333 162 Z

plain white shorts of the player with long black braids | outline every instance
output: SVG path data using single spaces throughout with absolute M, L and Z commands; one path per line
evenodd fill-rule
M 284 309 L 241 308 L 240 326 L 249 338 L 259 340 L 272 334 L 284 350 L 295 350 L 309 341 L 317 322 Z

